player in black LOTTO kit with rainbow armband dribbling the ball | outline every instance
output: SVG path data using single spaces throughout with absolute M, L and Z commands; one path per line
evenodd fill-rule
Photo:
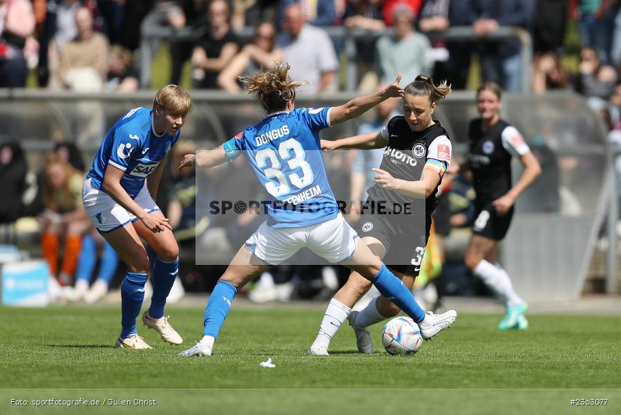
M 325 151 L 386 147 L 380 167 L 372 169 L 376 173 L 375 185 L 368 190 L 369 197 L 363 205 L 367 214 L 361 215 L 361 225 L 356 231 L 362 237 L 361 242 L 369 246 L 378 260 L 385 260 L 408 290 L 421 270 L 431 214 L 437 204 L 435 195 L 450 163 L 452 146 L 448 133 L 432 118 L 437 102 L 448 93 L 450 86 L 446 82 L 436 86 L 428 75 L 419 75 L 405 86 L 403 116 L 391 118 L 379 132 L 321 142 Z M 379 203 L 383 203 L 385 212 L 373 208 Z M 411 205 L 412 214 L 400 214 L 406 203 Z M 425 212 L 424 223 L 421 212 Z M 328 354 L 329 342 L 346 318 L 356 332 L 358 350 L 373 353 L 367 326 L 397 315 L 400 309 L 381 296 L 362 311 L 352 311 L 369 288 L 367 279 L 355 272 L 350 274 L 345 286 L 327 306 L 319 333 L 310 347 L 312 353 Z M 450 310 L 439 317 L 455 320 L 456 313 Z M 424 322 L 417 323 L 424 329 Z M 423 335 L 423 338 L 427 337 Z

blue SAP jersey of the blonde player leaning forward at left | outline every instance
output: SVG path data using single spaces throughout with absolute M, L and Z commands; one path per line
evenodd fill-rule
M 124 171 L 121 186 L 134 199 L 144 186 L 144 180 L 177 142 L 180 133 L 181 130 L 174 136 L 167 133 L 157 136 L 153 129 L 153 111 L 132 109 L 106 134 L 86 178 L 91 178 L 95 189 L 102 190 L 106 168 L 108 164 L 113 165 Z

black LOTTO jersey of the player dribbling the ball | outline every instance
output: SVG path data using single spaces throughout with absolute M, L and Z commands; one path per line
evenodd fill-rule
M 388 138 L 388 147 L 384 149 L 379 168 L 390 173 L 394 178 L 418 181 L 421 179 L 428 158 L 446 163 L 445 168 L 448 167 L 451 153 L 450 139 L 440 122 L 436 120 L 434 122 L 435 124 L 423 131 L 412 131 L 403 116 L 391 118 L 382 130 L 382 135 Z M 436 207 L 436 192 L 437 188 L 425 201 L 424 209 L 427 215 L 430 215 Z M 417 205 L 417 199 L 379 185 L 371 187 L 368 194 L 370 201 L 386 202 L 388 212 L 397 205 L 403 206 L 406 203 Z M 422 199 L 418 200 L 422 203 Z M 421 204 L 420 209 L 422 208 Z

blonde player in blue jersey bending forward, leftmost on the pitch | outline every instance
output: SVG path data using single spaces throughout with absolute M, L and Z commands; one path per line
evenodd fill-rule
M 164 316 L 164 305 L 179 269 L 179 247 L 168 219 L 155 204 L 162 161 L 177 142 L 192 109 L 186 91 L 166 85 L 153 108 L 128 111 L 108 131 L 86 175 L 82 201 L 95 228 L 111 244 L 128 271 L 121 285 L 121 334 L 116 347 L 151 349 L 136 329 L 149 276 L 149 255 L 140 238 L 155 250 L 153 297 L 142 322 L 171 344 L 183 342 Z

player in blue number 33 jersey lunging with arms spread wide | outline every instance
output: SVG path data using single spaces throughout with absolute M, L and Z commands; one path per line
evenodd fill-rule
M 295 91 L 305 82 L 292 81 L 288 70 L 287 64 L 276 63 L 271 71 L 241 77 L 267 116 L 216 149 L 187 154 L 180 165 L 213 167 L 245 151 L 251 169 L 274 203 L 267 209 L 269 219 L 238 250 L 213 289 L 205 308 L 202 339 L 179 356 L 211 356 L 238 289 L 304 247 L 373 282 L 382 295 L 420 323 L 424 338 L 437 335 L 455 321 L 455 317 L 447 320 L 426 314 L 401 280 L 365 243 L 358 243 L 358 235 L 338 210 L 321 157 L 319 131 L 356 118 L 383 100 L 403 96 L 401 75 L 383 91 L 354 98 L 340 107 L 296 109 Z

